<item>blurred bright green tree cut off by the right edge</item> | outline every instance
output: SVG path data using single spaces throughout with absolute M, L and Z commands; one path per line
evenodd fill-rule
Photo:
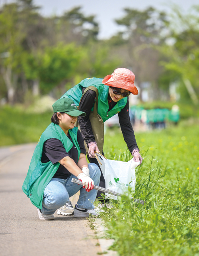
M 168 61 L 162 62 L 166 70 L 176 74 L 176 80 L 181 81 L 181 90 L 187 89 L 195 105 L 199 104 L 199 6 L 192 8 L 193 12 L 183 15 L 177 7 L 173 8 L 169 24 L 170 40 L 173 45 L 166 45 L 162 52 Z

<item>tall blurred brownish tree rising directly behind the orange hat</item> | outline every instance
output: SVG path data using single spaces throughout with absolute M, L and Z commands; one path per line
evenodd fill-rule
M 144 11 L 125 8 L 125 16 L 116 23 L 123 26 L 123 32 L 111 38 L 110 43 L 117 46 L 123 64 L 131 69 L 140 87 L 144 81 L 154 86 L 154 97 L 158 98 L 158 78 L 162 72 L 159 65 L 160 53 L 157 47 L 165 38 L 162 31 L 166 29 L 167 16 L 152 7 Z

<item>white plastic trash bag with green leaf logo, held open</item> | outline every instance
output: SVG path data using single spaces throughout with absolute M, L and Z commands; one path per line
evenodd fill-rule
M 103 173 L 103 177 L 106 183 L 106 189 L 124 194 L 128 191 L 128 187 L 131 187 L 135 191 L 135 168 L 140 162 L 133 161 L 133 158 L 129 162 L 121 162 L 115 160 L 105 159 L 101 155 L 98 155 L 99 165 Z M 117 200 L 117 196 L 113 196 L 105 193 L 106 197 Z

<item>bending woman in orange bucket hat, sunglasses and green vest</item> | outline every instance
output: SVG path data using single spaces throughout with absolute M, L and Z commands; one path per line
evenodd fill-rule
M 95 158 L 95 151 L 99 152 L 98 142 L 93 132 L 93 125 L 90 121 L 90 113 L 94 110 L 94 103 L 96 101 L 96 91 L 89 89 L 96 87 L 98 90 L 98 114 L 103 122 L 118 114 L 121 131 L 127 147 L 133 155 L 134 161 L 142 163 L 142 157 L 139 153 L 133 127 L 129 117 L 129 98 L 130 93 L 138 94 L 138 90 L 134 85 L 135 75 L 132 71 L 126 68 L 117 68 L 111 75 L 107 75 L 104 79 L 101 78 L 86 78 L 68 91 L 62 97 L 69 97 L 72 99 L 78 109 L 86 113 L 85 116 L 78 117 L 81 133 L 88 146 L 88 160 L 90 163 L 98 161 Z M 88 88 L 88 89 L 87 89 Z M 84 91 L 86 90 L 86 93 Z M 82 96 L 83 95 L 83 96 Z M 98 127 L 95 127 L 98 129 Z M 97 133 L 100 134 L 100 128 Z M 100 138 L 103 139 L 103 138 Z M 101 152 L 103 155 L 103 151 Z M 100 166 L 99 166 L 100 167 Z M 105 180 L 101 173 L 100 186 L 105 187 Z M 97 197 L 100 197 L 98 191 Z

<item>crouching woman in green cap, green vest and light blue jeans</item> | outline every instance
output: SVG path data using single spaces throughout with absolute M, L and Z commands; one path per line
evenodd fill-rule
M 100 169 L 87 163 L 84 139 L 74 127 L 77 117 L 86 113 L 66 97 L 57 100 L 53 110 L 52 123 L 39 139 L 22 190 L 37 207 L 41 220 L 53 220 L 53 214 L 63 205 L 64 215 L 97 215 L 93 204 L 97 191 L 93 187 L 100 183 Z M 76 177 L 83 187 L 72 183 Z M 73 208 L 69 197 L 78 191 L 80 196 Z

